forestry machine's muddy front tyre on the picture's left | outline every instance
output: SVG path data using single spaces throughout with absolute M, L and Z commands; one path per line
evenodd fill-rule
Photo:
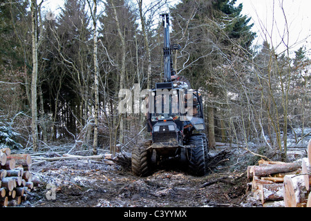
M 141 142 L 134 146 L 132 151 L 132 172 L 139 177 L 145 177 L 151 169 L 151 151 L 148 147 L 151 141 Z

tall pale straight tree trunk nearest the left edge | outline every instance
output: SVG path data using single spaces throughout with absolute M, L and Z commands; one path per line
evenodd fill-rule
M 31 129 L 32 146 L 34 151 L 38 151 L 38 123 L 37 123 L 37 77 L 38 77 L 38 48 L 37 48 L 37 0 L 31 1 L 31 21 L 32 21 L 32 81 L 31 81 Z

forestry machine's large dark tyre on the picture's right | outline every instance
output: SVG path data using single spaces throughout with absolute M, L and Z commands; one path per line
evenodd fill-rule
M 191 174 L 196 176 L 205 175 L 205 148 L 203 138 L 200 135 L 191 136 L 189 139 L 188 160 Z

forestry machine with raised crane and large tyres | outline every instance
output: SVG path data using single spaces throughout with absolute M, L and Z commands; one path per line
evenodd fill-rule
M 184 77 L 172 68 L 171 51 L 180 49 L 169 39 L 169 15 L 161 15 L 164 26 L 164 79 L 147 96 L 147 131 L 151 140 L 133 147 L 132 171 L 147 176 L 162 160 L 175 157 L 187 164 L 192 175 L 205 175 L 207 137 L 202 110 L 202 96 L 189 88 Z

